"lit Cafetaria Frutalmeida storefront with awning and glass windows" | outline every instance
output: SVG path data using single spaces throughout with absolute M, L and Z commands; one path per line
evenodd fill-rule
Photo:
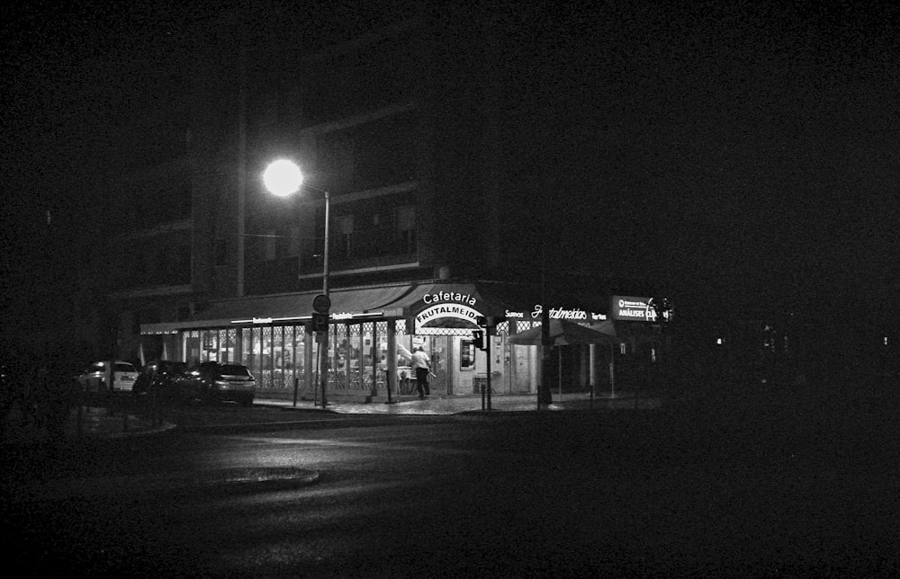
M 543 306 L 531 287 L 428 281 L 333 290 L 329 294 L 328 352 L 320 352 L 320 341 L 307 331 L 315 295 L 221 300 L 202 312 L 204 319 L 142 325 L 142 353 L 146 361 L 245 364 L 257 378 L 261 396 L 292 396 L 296 387 L 304 398 L 316 395 L 314 385 L 320 384 L 317 361 L 324 355 L 329 399 L 358 401 L 386 398 L 389 383 L 394 396 L 413 394 L 410 352 L 421 347 L 431 359 L 432 395 L 477 394 L 488 382 L 489 367 L 495 394 L 536 392 L 541 379 L 540 349 L 507 343 L 509 334 L 540 325 Z M 552 318 L 590 325 L 618 312 L 616 304 L 612 306 L 608 296 L 597 296 L 590 303 L 548 307 Z M 626 311 L 623 316 L 629 314 L 633 312 Z M 490 348 L 485 350 L 473 341 L 482 316 L 502 320 L 491 332 Z M 653 320 L 626 325 L 649 328 Z M 631 328 L 626 334 L 617 355 L 627 357 L 632 344 L 634 358 L 637 344 L 645 342 L 643 336 L 648 332 Z M 566 349 L 566 384 L 588 387 L 591 382 L 603 383 L 614 353 Z

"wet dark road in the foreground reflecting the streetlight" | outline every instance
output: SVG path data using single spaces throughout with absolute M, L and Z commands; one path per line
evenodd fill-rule
M 20 477 L 3 542 L 35 571 L 86 575 L 896 575 L 890 408 L 694 411 L 376 416 L 107 442 Z M 140 485 L 247 467 L 320 477 Z

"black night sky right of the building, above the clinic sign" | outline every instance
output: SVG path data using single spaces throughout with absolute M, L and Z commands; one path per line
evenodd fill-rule
M 882 280 L 900 248 L 896 9 L 633 4 L 519 14 L 547 125 L 533 160 L 569 200 L 568 245 L 660 255 L 663 277 L 716 306 Z

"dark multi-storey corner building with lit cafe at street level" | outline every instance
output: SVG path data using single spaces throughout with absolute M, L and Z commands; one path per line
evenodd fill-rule
M 529 196 L 528 174 L 510 169 L 509 97 L 477 31 L 424 12 L 343 37 L 250 30 L 238 16 L 211 23 L 180 61 L 184 155 L 113 180 L 130 192 L 134 224 L 112 243 L 121 357 L 239 361 L 262 389 L 303 396 L 322 367 L 332 393 L 372 399 L 389 384 L 410 390 L 409 352 L 422 347 L 433 394 L 489 380 L 498 393 L 533 392 L 538 349 L 505 340 L 539 324 L 540 308 L 590 325 L 615 316 L 613 296 L 656 295 L 642 276 L 606 273 L 615 264 L 575 275 L 548 255 L 562 227 L 553 196 Z M 278 158 L 302 167 L 300 194 L 266 192 L 261 175 Z M 319 352 L 307 328 L 324 192 L 332 306 Z M 165 210 L 130 201 L 164 197 Z M 487 352 L 473 344 L 479 316 L 504 318 Z M 608 379 L 619 356 L 660 359 L 655 319 L 616 323 L 617 349 L 556 358 L 566 384 Z

